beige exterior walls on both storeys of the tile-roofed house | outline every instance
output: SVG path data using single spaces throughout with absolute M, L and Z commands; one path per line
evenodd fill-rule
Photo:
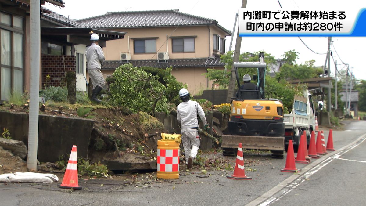
M 176 29 L 176 30 L 175 30 Z M 153 38 L 156 39 L 156 50 L 158 52 L 168 51 L 169 59 L 185 58 L 208 58 L 213 54 L 213 34 L 218 34 L 225 38 L 225 32 L 216 26 L 179 26 L 176 27 L 149 27 L 149 28 L 130 28 L 115 29 L 120 32 L 127 32 L 123 39 L 107 41 L 103 48 L 106 60 L 120 60 L 121 52 L 130 53 L 132 60 L 156 60 L 156 54 L 134 54 L 134 40 L 132 38 Z M 175 31 L 174 31 L 175 30 Z M 195 37 L 195 52 L 191 53 L 172 53 L 172 38 L 168 36 L 197 36 Z M 129 44 L 128 44 L 129 43 Z M 229 43 L 227 43 L 229 44 Z M 129 49 L 128 49 L 129 48 Z M 217 53 L 217 52 L 215 52 Z M 219 53 L 217 53 L 219 54 Z M 207 69 L 224 69 L 224 67 L 184 67 L 173 68 L 172 74 L 176 79 L 188 85 L 188 91 L 197 95 L 204 89 L 211 89 L 212 82 L 202 75 Z M 114 70 L 102 70 L 102 73 L 111 75 Z M 87 75 L 89 81 L 89 76 Z

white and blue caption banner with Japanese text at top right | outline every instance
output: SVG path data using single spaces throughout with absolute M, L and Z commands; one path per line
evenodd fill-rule
M 366 8 L 239 9 L 239 36 L 366 36 Z

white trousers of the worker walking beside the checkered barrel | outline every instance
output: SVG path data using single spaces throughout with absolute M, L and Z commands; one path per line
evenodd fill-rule
M 180 131 L 182 132 L 182 143 L 186 154 L 186 162 L 188 162 L 190 156 L 193 159 L 196 158 L 201 141 L 199 140 L 197 129 L 182 128 Z

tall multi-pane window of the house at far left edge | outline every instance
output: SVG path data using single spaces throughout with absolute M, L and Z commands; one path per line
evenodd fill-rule
M 24 19 L 0 12 L 0 100 L 23 94 Z

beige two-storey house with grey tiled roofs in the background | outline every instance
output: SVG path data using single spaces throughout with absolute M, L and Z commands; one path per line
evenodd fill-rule
M 127 32 L 124 39 L 107 42 L 102 73 L 110 75 L 124 63 L 172 67 L 172 74 L 193 94 L 211 88 L 212 82 L 202 75 L 207 69 L 224 69 L 220 54 L 225 54 L 225 37 L 231 35 L 214 19 L 179 10 L 108 12 L 76 21 L 85 27 Z

